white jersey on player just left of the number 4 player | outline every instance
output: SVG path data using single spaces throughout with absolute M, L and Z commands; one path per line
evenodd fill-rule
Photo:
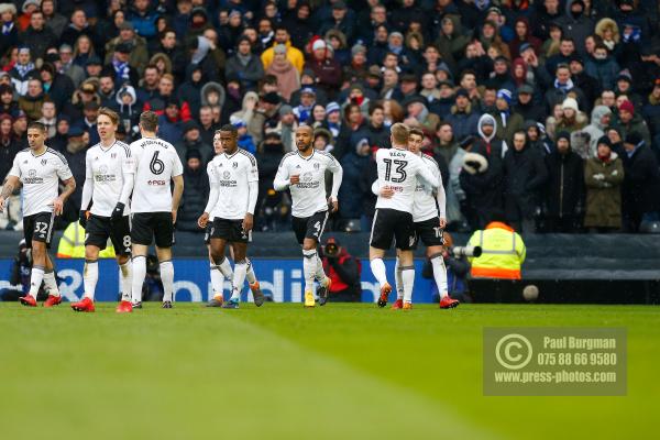
M 256 160 L 245 150 L 233 155 L 222 153 L 207 165 L 209 183 L 218 188 L 218 202 L 209 212 L 210 218 L 243 220 L 250 201 L 251 182 L 258 182 Z

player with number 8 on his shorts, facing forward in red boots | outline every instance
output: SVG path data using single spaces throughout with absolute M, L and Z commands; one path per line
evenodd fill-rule
M 80 226 L 85 228 L 85 296 L 80 301 L 72 304 L 76 311 L 95 310 L 99 252 L 106 249 L 108 239 L 114 248 L 121 282 L 121 301 L 117 311 L 132 311 L 131 227 L 128 204 L 133 190 L 135 169 L 129 145 L 114 138 L 118 124 L 119 116 L 113 110 L 99 109 L 97 128 L 100 142 L 90 147 L 85 157 L 85 186 L 80 205 Z

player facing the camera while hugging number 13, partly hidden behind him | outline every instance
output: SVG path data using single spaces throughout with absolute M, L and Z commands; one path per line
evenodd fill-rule
M 442 232 L 447 226 L 446 196 L 442 187 L 440 168 L 433 157 L 421 153 L 424 132 L 419 129 L 410 129 L 408 133 L 408 151 L 421 157 L 425 165 L 438 177 L 440 186 L 436 191 L 422 183 L 417 183 L 415 190 L 415 205 L 413 207 L 413 222 L 415 223 L 415 246 L 421 240 L 427 246 L 426 255 L 433 268 L 433 278 L 440 292 L 440 308 L 449 309 L 457 307 L 459 301 L 448 295 L 447 268 L 442 258 L 443 237 Z M 381 189 L 381 196 L 387 198 L 394 195 L 391 188 Z M 396 301 L 393 309 L 404 308 L 404 283 L 402 279 L 400 262 L 397 256 L 395 265 Z

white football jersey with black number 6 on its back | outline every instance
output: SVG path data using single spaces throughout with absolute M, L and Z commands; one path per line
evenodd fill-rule
M 131 144 L 135 162 L 132 212 L 172 212 L 172 177 L 184 173 L 174 146 L 157 138 L 142 138 Z

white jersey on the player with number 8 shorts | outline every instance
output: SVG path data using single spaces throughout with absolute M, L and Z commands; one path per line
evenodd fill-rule
M 87 178 L 91 176 L 94 182 L 90 211 L 95 216 L 110 217 L 121 196 L 124 174 L 134 173 L 131 150 L 120 141 L 114 141 L 108 148 L 98 143 L 87 151 L 85 164 L 86 176 Z M 123 215 L 129 213 L 130 209 L 127 205 Z

